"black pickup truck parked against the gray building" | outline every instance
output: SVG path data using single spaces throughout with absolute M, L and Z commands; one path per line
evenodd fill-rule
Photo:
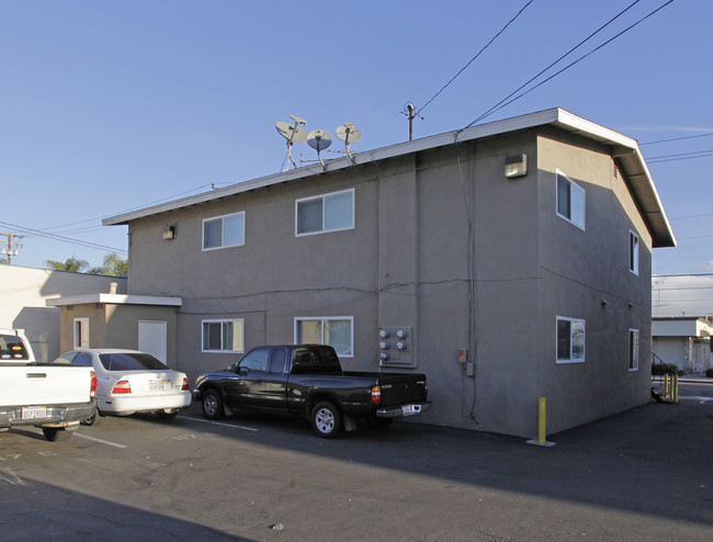
M 253 348 L 226 371 L 199 376 L 193 397 L 208 419 L 235 408 L 306 416 L 325 439 L 355 429 L 358 419 L 386 427 L 431 407 L 425 374 L 342 371 L 324 345 Z

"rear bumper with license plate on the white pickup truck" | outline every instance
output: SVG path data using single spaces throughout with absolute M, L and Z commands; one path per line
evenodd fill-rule
M 14 426 L 68 427 L 77 426 L 97 411 L 97 399 L 70 405 L 0 406 L 0 428 Z

